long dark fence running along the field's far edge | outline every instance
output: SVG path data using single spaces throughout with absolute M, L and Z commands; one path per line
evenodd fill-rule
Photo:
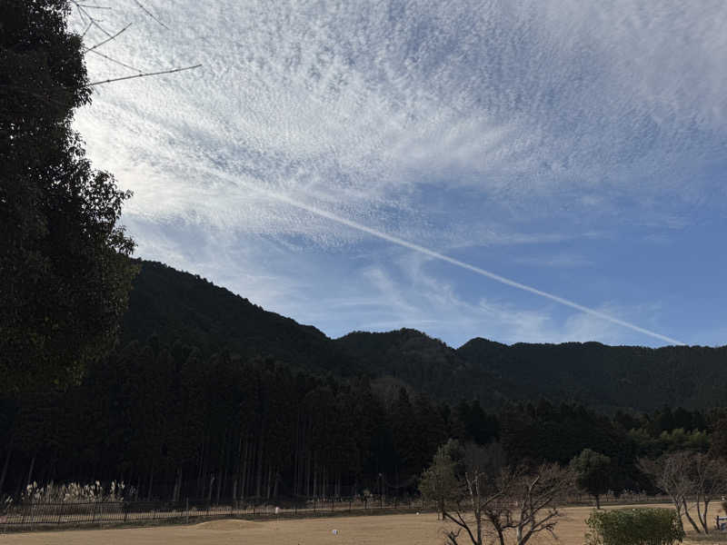
M 272 501 L 272 500 L 270 500 Z M 190 522 L 223 517 L 270 519 L 376 514 L 393 511 L 419 511 L 426 505 L 420 498 L 372 497 L 314 498 L 303 501 L 238 500 L 215 504 L 209 500 L 183 501 L 97 501 L 25 503 L 9 506 L 0 513 L 0 531 L 52 529 L 74 525 L 119 525 Z

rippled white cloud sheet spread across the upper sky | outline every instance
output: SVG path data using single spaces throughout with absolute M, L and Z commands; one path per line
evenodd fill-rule
M 720 2 L 149 5 L 172 30 L 119 2 L 106 24 L 134 26 L 107 53 L 203 69 L 107 85 L 78 120 L 134 213 L 286 231 L 275 211 L 225 210 L 244 188 L 184 179 L 195 164 L 381 226 L 426 213 L 424 181 L 536 213 L 563 192 L 679 195 L 693 179 L 665 174 L 723 154 Z

